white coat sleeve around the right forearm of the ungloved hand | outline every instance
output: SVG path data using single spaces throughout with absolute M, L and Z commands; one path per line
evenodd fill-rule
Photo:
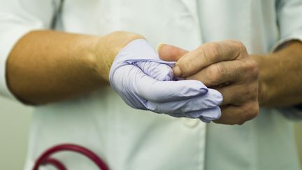
M 302 42 L 302 0 L 277 0 L 277 22 L 280 28 L 280 40 L 273 45 L 271 51 L 285 45 L 286 42 L 297 40 Z M 302 119 L 302 104 L 279 109 L 286 118 Z

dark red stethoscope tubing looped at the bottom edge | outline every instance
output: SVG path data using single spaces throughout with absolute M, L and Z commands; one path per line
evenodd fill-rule
M 62 164 L 62 162 L 59 162 L 59 160 L 50 157 L 50 155 L 52 155 L 53 153 L 57 153 L 61 151 L 73 151 L 75 153 L 80 153 L 88 157 L 90 160 L 92 160 L 92 162 L 94 162 L 96 166 L 99 167 L 99 169 L 109 170 L 107 164 L 103 162 L 103 160 L 101 160 L 101 158 L 98 157 L 91 150 L 88 150 L 87 148 L 84 148 L 82 146 L 69 144 L 69 143 L 53 146 L 52 148 L 45 150 L 45 152 L 40 157 L 38 157 L 38 160 L 36 160 L 33 170 L 38 170 L 38 167 L 40 167 L 40 165 L 46 165 L 46 164 L 51 164 L 52 166 L 56 167 L 59 170 L 67 170 L 64 164 Z

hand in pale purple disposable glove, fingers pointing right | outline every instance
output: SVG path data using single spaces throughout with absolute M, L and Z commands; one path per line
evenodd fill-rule
M 131 41 L 115 57 L 110 84 L 132 108 L 173 117 L 220 118 L 222 94 L 198 80 L 174 80 L 174 62 L 164 62 L 144 39 Z

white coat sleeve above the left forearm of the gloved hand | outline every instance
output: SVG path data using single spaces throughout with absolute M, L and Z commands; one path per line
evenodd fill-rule
M 0 97 L 15 99 L 6 83 L 6 60 L 17 41 L 34 29 L 48 29 L 55 0 L 0 0 Z

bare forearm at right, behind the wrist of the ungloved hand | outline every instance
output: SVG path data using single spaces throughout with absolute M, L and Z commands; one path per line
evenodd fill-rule
M 302 103 L 302 43 L 295 41 L 270 55 L 255 55 L 259 63 L 259 104 L 279 107 Z

